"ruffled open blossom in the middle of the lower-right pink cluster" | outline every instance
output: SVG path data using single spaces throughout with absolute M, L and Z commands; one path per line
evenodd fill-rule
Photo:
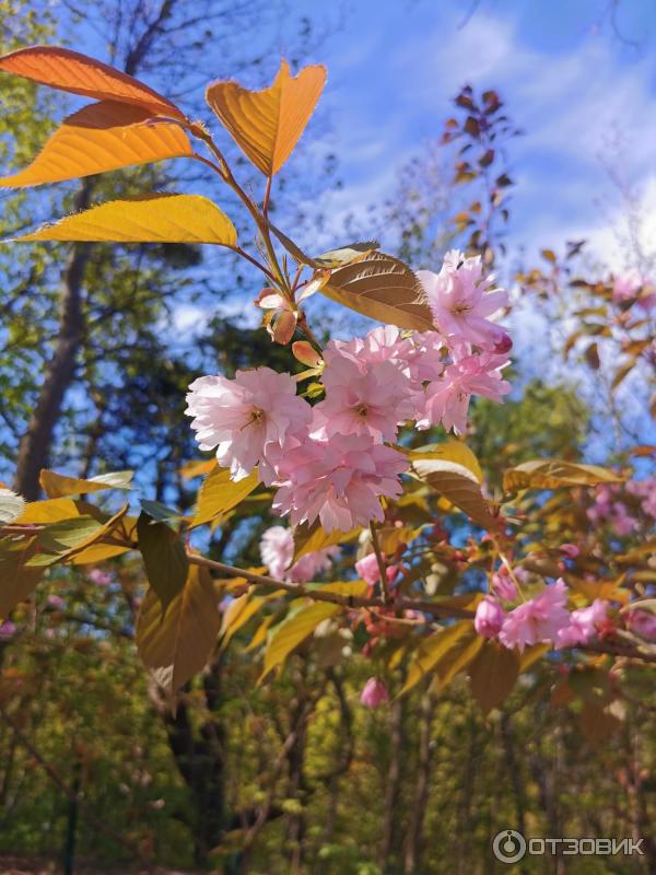
M 541 593 L 506 615 L 499 640 L 506 648 L 523 651 L 527 644 L 554 642 L 561 629 L 570 622 L 565 608 L 567 587 L 562 578 Z

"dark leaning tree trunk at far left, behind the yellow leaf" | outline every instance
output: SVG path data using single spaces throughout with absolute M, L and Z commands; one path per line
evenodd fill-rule
M 93 179 L 82 182 L 74 210 L 84 210 L 91 201 Z M 14 489 L 28 501 L 39 495 L 38 475 L 48 467 L 55 428 L 61 416 L 67 389 L 75 373 L 75 360 L 84 337 L 82 284 L 89 260 L 89 244 L 75 244 L 67 259 L 61 280 L 59 331 L 40 392 L 19 445 Z

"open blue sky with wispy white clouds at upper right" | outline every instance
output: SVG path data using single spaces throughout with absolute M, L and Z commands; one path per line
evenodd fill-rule
M 468 15 L 472 8 L 353 0 L 321 11 L 291 0 L 291 12 L 333 25 L 312 60 L 329 70 L 323 108 L 345 182 L 329 196 L 336 226 L 353 205 L 394 190 L 399 166 L 438 136 L 449 100 L 470 82 L 497 89 L 526 132 L 512 149 L 511 244 L 532 254 L 585 236 L 622 266 L 609 166 L 641 200 L 645 233 L 656 231 L 656 2 L 621 0 L 619 34 L 609 0 L 481 0 Z

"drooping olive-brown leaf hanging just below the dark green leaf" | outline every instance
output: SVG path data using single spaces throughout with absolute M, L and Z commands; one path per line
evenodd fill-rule
M 187 581 L 162 617 L 159 595 L 150 588 L 137 620 L 137 650 L 160 686 L 173 695 L 210 658 L 221 615 L 207 569 L 189 567 Z

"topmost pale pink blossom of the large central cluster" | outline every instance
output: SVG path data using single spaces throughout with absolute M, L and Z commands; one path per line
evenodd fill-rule
M 506 306 L 508 296 L 493 289 L 494 276 L 485 277 L 479 255 L 466 258 L 453 249 L 444 258 L 440 273 L 418 271 L 437 329 L 457 342 L 493 349 L 501 341 L 501 329 L 487 317 Z

